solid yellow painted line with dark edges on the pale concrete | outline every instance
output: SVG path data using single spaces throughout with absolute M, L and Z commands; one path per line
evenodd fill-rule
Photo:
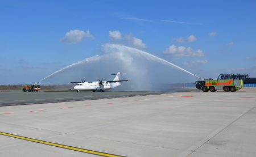
M 42 143 L 44 145 L 66 148 L 66 149 L 69 149 L 69 150 L 75 150 L 75 151 L 80 151 L 80 152 L 86 152 L 86 153 L 94 154 L 94 155 L 108 156 L 108 157 L 124 157 L 124 156 L 119 156 L 119 155 L 114 155 L 114 154 L 108 154 L 108 153 L 105 153 L 105 152 L 98 152 L 98 151 L 93 151 L 93 150 L 86 150 L 86 149 L 83 149 L 83 148 L 76 148 L 76 147 L 71 147 L 71 146 L 60 145 L 60 144 L 57 144 L 57 143 L 41 141 L 41 140 L 38 140 L 38 139 L 22 137 L 22 136 L 19 136 L 19 135 L 7 134 L 7 133 L 2 133 L 2 132 L 0 132 L 0 134 L 1 135 L 6 135 L 6 136 L 9 136 L 9 137 L 14 137 L 14 138 L 19 138 L 19 139 L 31 141 L 31 142 Z

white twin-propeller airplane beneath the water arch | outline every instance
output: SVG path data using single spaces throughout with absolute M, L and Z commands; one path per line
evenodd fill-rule
M 74 89 L 76 90 L 76 92 L 80 92 L 80 91 L 102 91 L 105 92 L 105 90 L 110 90 L 112 88 L 115 88 L 119 85 L 121 85 L 121 83 L 119 82 L 123 82 L 123 81 L 129 81 L 129 80 L 119 80 L 119 77 L 121 75 L 121 73 L 117 73 L 117 74 L 112 74 L 112 75 L 116 75 L 116 77 L 114 78 L 114 80 L 108 80 L 108 81 L 102 81 L 103 78 L 100 80 L 98 79 L 97 82 L 71 82 L 71 83 L 77 83 L 76 86 L 74 87 Z

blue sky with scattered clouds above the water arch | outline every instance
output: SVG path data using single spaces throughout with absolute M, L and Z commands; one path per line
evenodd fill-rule
M 256 1 L 3 0 L 0 84 L 38 82 L 101 55 L 106 43 L 143 50 L 203 78 L 256 77 L 255 7 Z

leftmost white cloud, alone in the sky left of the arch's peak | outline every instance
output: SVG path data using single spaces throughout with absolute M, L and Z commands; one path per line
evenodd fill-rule
M 82 39 L 84 39 L 84 37 L 88 37 L 92 40 L 95 39 L 93 35 L 90 35 L 89 29 L 87 29 L 87 32 L 75 29 L 67 32 L 65 37 L 60 41 L 65 44 L 76 44 L 79 43 Z

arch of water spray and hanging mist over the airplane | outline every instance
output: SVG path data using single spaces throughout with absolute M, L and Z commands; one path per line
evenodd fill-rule
M 102 77 L 104 80 L 113 80 L 110 74 L 121 72 L 127 73 L 127 75 L 122 75 L 121 79 L 132 80 L 122 83 L 122 86 L 119 86 L 121 90 L 155 91 L 162 90 L 161 84 L 191 82 L 197 77 L 171 62 L 139 49 L 124 45 L 104 44 L 102 51 L 104 54 L 101 56 L 73 63 L 39 82 L 67 84 L 78 82 L 81 78 L 86 81 L 96 81 Z

